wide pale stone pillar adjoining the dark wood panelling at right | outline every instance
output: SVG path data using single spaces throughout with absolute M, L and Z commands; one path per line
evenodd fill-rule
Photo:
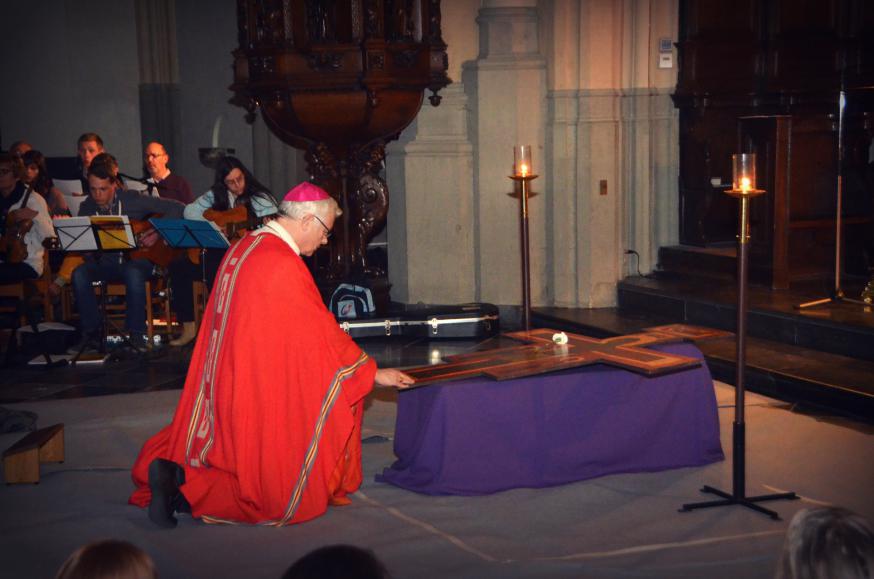
M 676 38 L 676 1 L 553 0 L 544 10 L 549 63 L 547 189 L 555 305 L 605 307 L 616 283 L 655 266 L 677 236 L 675 69 L 658 68 L 659 37 Z

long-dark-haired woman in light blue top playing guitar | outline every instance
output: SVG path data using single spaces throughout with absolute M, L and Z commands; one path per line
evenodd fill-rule
M 185 207 L 185 219 L 209 220 L 225 227 L 228 239 L 233 241 L 234 231 L 259 227 L 277 212 L 276 202 L 264 187 L 236 157 L 223 157 L 216 166 L 212 189 Z M 234 231 L 229 231 L 234 230 Z M 212 287 L 215 274 L 221 263 L 224 250 L 210 249 L 206 252 L 207 290 Z M 171 346 L 184 346 L 191 342 L 197 331 L 194 326 L 194 282 L 204 275 L 200 265 L 188 257 L 177 258 L 170 264 L 172 287 L 170 307 L 182 324 L 182 335 L 170 342 Z

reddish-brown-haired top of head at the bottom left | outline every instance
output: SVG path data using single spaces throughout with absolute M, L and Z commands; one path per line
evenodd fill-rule
M 155 563 L 127 541 L 95 541 L 76 549 L 55 579 L 157 579 Z

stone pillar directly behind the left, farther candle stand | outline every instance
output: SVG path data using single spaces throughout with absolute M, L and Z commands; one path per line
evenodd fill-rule
M 486 2 L 479 11 L 480 49 L 465 65 L 474 145 L 474 207 L 477 299 L 502 305 L 522 301 L 519 201 L 511 197 L 513 146 L 531 145 L 534 171 L 546 169 L 546 60 L 540 54 L 534 2 Z M 545 179 L 529 204 L 531 298 L 546 296 Z

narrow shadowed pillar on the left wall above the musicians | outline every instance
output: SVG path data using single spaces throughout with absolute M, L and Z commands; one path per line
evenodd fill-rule
M 142 144 L 158 141 L 181 158 L 182 114 L 174 0 L 136 0 Z

